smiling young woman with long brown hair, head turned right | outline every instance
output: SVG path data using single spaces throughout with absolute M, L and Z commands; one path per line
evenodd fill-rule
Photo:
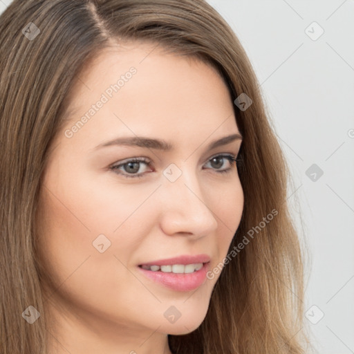
M 304 353 L 286 162 L 205 1 L 1 15 L 3 353 Z

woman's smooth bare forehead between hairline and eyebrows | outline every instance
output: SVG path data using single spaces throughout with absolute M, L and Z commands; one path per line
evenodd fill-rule
M 102 50 L 77 75 L 67 112 L 66 129 L 86 115 L 80 135 L 85 131 L 91 138 L 129 133 L 195 140 L 196 133 L 206 139 L 216 131 L 238 131 L 230 93 L 216 69 L 152 44 Z

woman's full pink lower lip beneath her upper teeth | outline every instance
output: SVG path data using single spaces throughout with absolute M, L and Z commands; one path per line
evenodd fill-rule
M 153 272 L 152 270 L 146 270 L 138 267 L 140 272 L 142 272 L 142 274 L 146 277 L 176 291 L 190 291 L 201 286 L 205 281 L 208 268 L 209 262 L 204 263 L 200 270 L 196 270 L 193 273 L 177 274 L 173 272 Z

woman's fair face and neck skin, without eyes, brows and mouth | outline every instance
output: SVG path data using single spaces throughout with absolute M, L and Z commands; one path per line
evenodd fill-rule
M 239 226 L 243 190 L 235 162 L 211 158 L 236 157 L 241 140 L 207 149 L 239 133 L 227 86 L 207 64 L 153 48 L 130 42 L 103 50 L 73 86 L 68 111 L 75 114 L 53 142 L 38 212 L 39 252 L 52 280 L 44 282 L 51 354 L 171 354 L 167 334 L 200 326 L 220 274 L 180 292 L 137 266 L 205 253 L 212 269 Z M 131 80 L 67 138 L 64 131 L 131 66 L 137 69 Z M 164 139 L 175 148 L 94 149 L 118 136 Z M 131 171 L 127 165 L 122 174 L 109 169 L 140 157 L 150 160 L 138 165 L 142 178 L 122 176 Z M 182 171 L 173 183 L 162 174 L 171 163 Z M 227 167 L 232 170 L 218 173 Z M 100 234 L 111 241 L 102 253 L 93 247 Z M 164 317 L 170 306 L 181 313 L 173 324 Z

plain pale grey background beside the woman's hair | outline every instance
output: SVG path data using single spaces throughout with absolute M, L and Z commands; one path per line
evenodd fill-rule
M 248 53 L 290 166 L 312 342 L 354 353 L 354 1 L 208 2 Z

